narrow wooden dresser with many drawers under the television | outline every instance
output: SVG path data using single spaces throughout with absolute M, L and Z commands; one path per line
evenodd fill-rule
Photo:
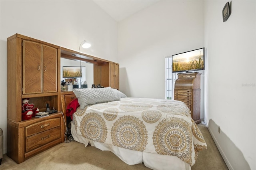
M 183 101 L 191 110 L 191 117 L 196 124 L 200 119 L 200 75 L 201 73 L 178 73 L 174 85 L 174 100 Z

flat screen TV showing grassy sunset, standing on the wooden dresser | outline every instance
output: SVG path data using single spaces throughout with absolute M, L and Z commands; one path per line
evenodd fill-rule
M 172 73 L 204 70 L 204 48 L 172 55 Z

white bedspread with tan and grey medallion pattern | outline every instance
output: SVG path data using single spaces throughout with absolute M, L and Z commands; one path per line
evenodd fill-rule
M 188 107 L 180 101 L 121 98 L 77 108 L 76 132 L 121 148 L 177 156 L 191 166 L 206 149 Z

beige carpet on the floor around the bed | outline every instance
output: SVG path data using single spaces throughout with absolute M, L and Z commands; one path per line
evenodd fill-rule
M 199 124 L 207 144 L 207 150 L 199 153 L 192 170 L 228 170 L 208 128 Z M 76 141 L 61 143 L 21 164 L 16 164 L 6 154 L 0 170 L 149 170 L 144 164 L 127 165 L 110 151 L 92 146 L 84 147 Z

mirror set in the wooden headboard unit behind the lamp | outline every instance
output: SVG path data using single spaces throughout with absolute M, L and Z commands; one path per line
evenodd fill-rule
M 82 66 L 82 77 L 70 77 L 63 78 L 63 66 Z M 86 61 L 75 61 L 66 58 L 60 58 L 60 81 L 65 79 L 72 79 L 74 85 L 78 85 L 78 88 L 81 88 L 81 85 L 84 83 L 87 84 L 87 88 L 91 88 L 94 80 L 94 71 L 93 64 Z

